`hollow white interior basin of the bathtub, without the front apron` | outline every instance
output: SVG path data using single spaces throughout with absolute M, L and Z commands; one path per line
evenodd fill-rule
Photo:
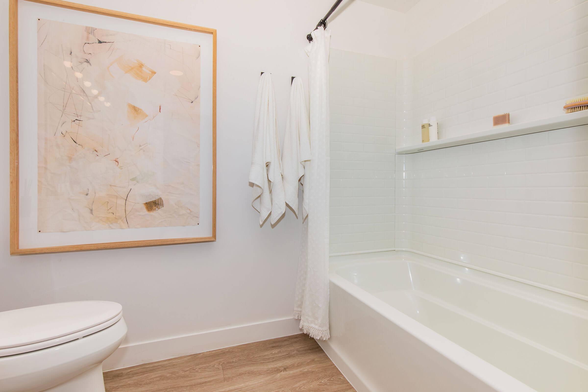
M 537 391 L 587 390 L 587 301 L 394 253 L 335 273 Z

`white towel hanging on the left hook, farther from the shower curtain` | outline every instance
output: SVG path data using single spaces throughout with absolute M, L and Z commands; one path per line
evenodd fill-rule
M 259 211 L 259 225 L 262 225 L 270 213 L 270 222 L 273 225 L 285 212 L 286 202 L 275 96 L 272 75 L 269 72 L 263 73 L 259 79 L 249 182 L 253 183 L 251 205 Z

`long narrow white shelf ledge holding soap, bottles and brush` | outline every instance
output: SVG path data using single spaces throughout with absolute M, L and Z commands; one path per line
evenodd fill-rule
M 566 113 L 560 116 L 512 124 L 469 133 L 468 135 L 420 143 L 419 145 L 397 147 L 397 154 L 412 154 L 415 152 L 436 150 L 440 148 L 462 146 L 471 143 L 487 142 L 488 140 L 510 138 L 512 136 L 528 135 L 529 133 L 545 132 L 546 130 L 568 128 L 570 126 L 588 124 L 588 110 Z

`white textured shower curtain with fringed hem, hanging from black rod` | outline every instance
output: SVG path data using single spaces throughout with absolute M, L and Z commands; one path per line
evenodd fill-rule
M 329 339 L 329 48 L 330 32 L 312 32 L 309 56 L 310 170 L 308 217 L 302 225 L 294 317 L 315 339 Z M 305 190 L 306 192 L 306 190 Z

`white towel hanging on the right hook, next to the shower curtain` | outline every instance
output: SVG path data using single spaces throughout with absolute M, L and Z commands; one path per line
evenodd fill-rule
M 298 216 L 298 184 L 302 188 L 302 219 L 308 215 L 308 191 L 305 190 L 304 173 L 310 162 L 310 129 L 306 114 L 304 86 L 300 78 L 294 78 L 290 87 L 290 107 L 286 116 L 282 170 L 286 204 Z

